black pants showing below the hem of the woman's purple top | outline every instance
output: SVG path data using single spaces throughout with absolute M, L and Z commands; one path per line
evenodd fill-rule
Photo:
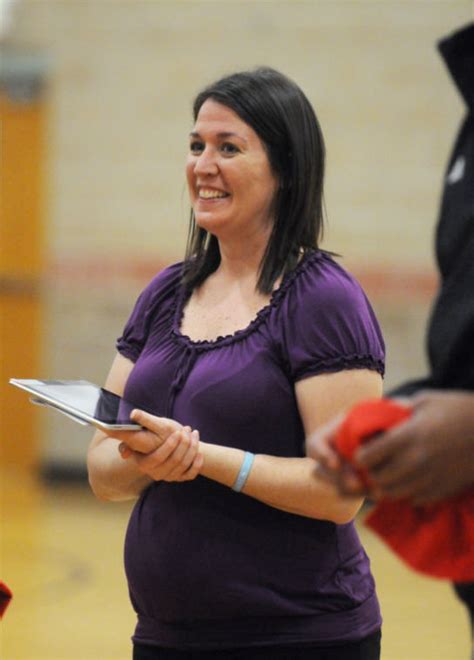
M 178 651 L 135 644 L 133 660 L 379 660 L 380 631 L 337 646 L 267 646 L 219 651 Z

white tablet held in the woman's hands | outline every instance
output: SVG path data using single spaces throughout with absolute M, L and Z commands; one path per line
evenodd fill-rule
M 32 394 L 32 403 L 59 410 L 80 424 L 106 431 L 141 429 L 130 420 L 130 413 L 137 406 L 87 380 L 11 378 L 10 383 Z

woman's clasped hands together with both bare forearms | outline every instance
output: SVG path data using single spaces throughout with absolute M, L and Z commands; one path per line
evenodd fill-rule
M 98 434 L 91 445 L 89 479 L 100 499 L 137 497 L 153 479 L 182 481 L 201 474 L 229 488 L 235 484 L 244 460 L 243 450 L 194 442 L 188 427 L 143 411 L 134 413 L 133 419 L 145 430 L 120 434 L 130 450 L 127 460 L 120 457 L 116 439 Z M 297 515 L 339 524 L 352 520 L 362 499 L 341 496 L 334 486 L 315 475 L 314 468 L 311 458 L 258 454 L 242 492 Z

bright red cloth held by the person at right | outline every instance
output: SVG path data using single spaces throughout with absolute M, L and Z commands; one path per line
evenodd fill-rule
M 388 399 L 356 405 L 336 437 L 347 461 L 364 442 L 411 414 Z M 361 474 L 368 483 L 367 474 Z M 474 489 L 437 504 L 414 507 L 405 500 L 375 505 L 365 524 L 411 568 L 454 582 L 474 581 Z

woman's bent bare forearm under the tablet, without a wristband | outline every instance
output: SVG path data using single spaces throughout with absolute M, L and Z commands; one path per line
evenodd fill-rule
M 88 452 L 89 483 L 100 500 L 135 499 L 152 481 L 138 470 L 133 458 L 121 458 L 118 444 L 113 438 L 103 438 L 94 441 Z

